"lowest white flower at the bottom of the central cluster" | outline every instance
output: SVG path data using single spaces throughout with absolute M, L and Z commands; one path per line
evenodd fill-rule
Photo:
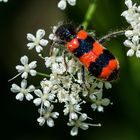
M 83 130 L 87 130 L 89 128 L 89 124 L 84 122 L 86 119 L 87 114 L 83 113 L 79 118 L 70 120 L 68 126 L 74 126 L 70 131 L 72 136 L 76 136 L 78 134 L 78 128 Z

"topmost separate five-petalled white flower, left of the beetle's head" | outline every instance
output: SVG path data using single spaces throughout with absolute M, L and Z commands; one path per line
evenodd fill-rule
M 27 47 L 29 50 L 33 49 L 35 47 L 37 53 L 40 53 L 43 48 L 42 46 L 46 46 L 48 44 L 48 40 L 42 39 L 45 36 L 45 30 L 38 29 L 36 32 L 36 37 L 30 33 L 27 34 L 27 39 L 29 41 L 32 41 L 27 44 Z

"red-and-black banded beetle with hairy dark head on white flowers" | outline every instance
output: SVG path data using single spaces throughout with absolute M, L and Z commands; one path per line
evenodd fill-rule
M 88 32 L 76 29 L 72 24 L 60 25 L 56 32 L 60 44 L 66 45 L 69 52 L 100 80 L 113 81 L 119 75 L 119 62 L 114 55 Z

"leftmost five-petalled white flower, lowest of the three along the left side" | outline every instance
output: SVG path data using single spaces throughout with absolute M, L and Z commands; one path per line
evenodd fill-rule
M 27 80 L 25 79 L 21 81 L 21 87 L 19 87 L 16 84 L 12 84 L 11 91 L 14 93 L 18 93 L 16 95 L 17 100 L 22 101 L 24 96 L 28 101 L 33 99 L 33 96 L 30 94 L 30 92 L 33 92 L 35 90 L 35 87 L 33 85 L 30 85 L 28 88 L 26 87 L 27 87 Z

